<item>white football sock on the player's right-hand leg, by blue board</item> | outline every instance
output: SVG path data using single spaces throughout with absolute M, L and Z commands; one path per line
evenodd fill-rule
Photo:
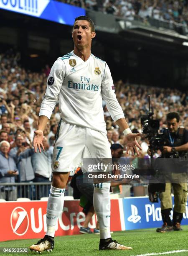
M 100 238 L 110 238 L 110 183 L 94 184 L 93 205 L 99 221 Z

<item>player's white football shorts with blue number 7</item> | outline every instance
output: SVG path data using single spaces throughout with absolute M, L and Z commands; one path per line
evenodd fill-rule
M 52 172 L 74 175 L 85 158 L 112 159 L 107 135 L 61 120 L 53 148 Z

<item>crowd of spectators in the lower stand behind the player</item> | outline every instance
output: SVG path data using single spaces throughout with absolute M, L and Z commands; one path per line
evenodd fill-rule
M 20 54 L 12 49 L 0 54 L 0 182 L 50 182 L 51 156 L 60 115 L 58 104 L 45 131 L 42 154 L 33 154 L 33 136 L 37 127 L 41 101 L 46 91 L 50 72 L 46 65 L 41 72 L 25 70 L 20 64 Z M 188 95 L 179 90 L 114 83 L 117 99 L 124 111 L 132 132 L 141 132 L 140 113 L 148 110 L 147 95 L 151 95 L 154 118 L 160 127 L 166 127 L 166 114 L 180 113 L 180 125 L 188 129 Z M 124 144 L 124 136 L 109 115 L 103 102 L 104 120 L 110 145 Z M 140 137 L 142 153 L 147 155 L 148 142 Z M 126 155 L 124 155 L 126 156 Z M 0 186 L 2 193 L 6 189 Z M 45 196 L 45 195 L 44 195 Z M 36 195 L 37 197 L 37 195 Z M 4 195 L 7 199 L 7 195 Z M 8 200 L 14 199 L 14 195 Z

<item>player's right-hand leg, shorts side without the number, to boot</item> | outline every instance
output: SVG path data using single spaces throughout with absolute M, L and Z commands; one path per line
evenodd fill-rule
M 112 159 L 109 142 L 105 133 L 86 129 L 86 148 L 83 158 Z M 83 172 L 86 170 L 83 169 Z M 94 210 L 99 220 L 100 243 L 99 250 L 130 250 L 112 240 L 110 235 L 110 183 L 94 184 Z

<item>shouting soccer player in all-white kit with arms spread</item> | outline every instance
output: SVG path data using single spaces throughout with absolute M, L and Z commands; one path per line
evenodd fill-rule
M 105 61 L 91 54 L 91 41 L 95 37 L 94 23 L 86 17 L 75 19 L 72 38 L 74 50 L 58 58 L 48 76 L 48 86 L 39 113 L 38 130 L 35 131 L 33 146 L 41 152 L 43 131 L 51 117 L 59 95 L 61 120 L 58 124 L 56 143 L 53 149 L 53 182 L 48 197 L 46 223 L 43 239 L 30 246 L 32 251 L 52 251 L 55 225 L 63 211 L 64 192 L 69 174 L 84 158 L 111 159 L 106 124 L 102 109 L 102 98 L 113 120 L 125 135 L 127 152 L 139 155 L 136 137 L 124 118 L 114 93 L 113 80 Z M 99 220 L 99 250 L 129 250 L 112 240 L 110 235 L 110 183 L 94 186 L 94 210 Z

